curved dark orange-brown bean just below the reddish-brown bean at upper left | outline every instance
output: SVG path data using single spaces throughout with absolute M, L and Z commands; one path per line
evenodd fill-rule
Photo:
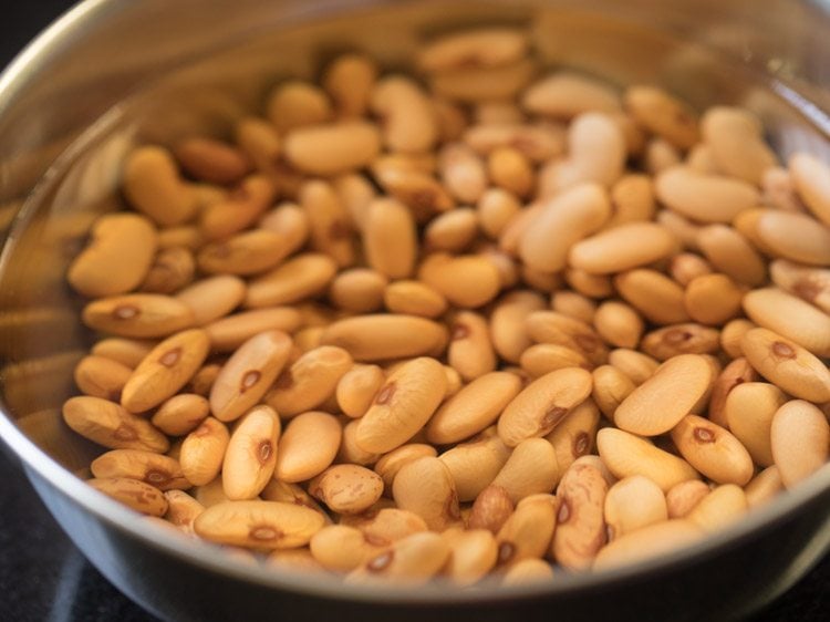
M 238 234 L 266 212 L 276 194 L 277 187 L 269 177 L 249 175 L 226 199 L 201 210 L 199 229 L 211 240 Z

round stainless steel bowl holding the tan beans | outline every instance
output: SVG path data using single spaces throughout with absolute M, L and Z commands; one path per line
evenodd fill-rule
M 60 417 L 87 343 L 64 273 L 91 220 L 117 206 L 129 146 L 227 132 L 276 80 L 313 76 L 336 51 L 404 66 L 419 37 L 481 23 L 526 25 L 551 65 L 664 84 L 701 107 L 746 105 L 784 156 L 830 159 L 830 21 L 818 2 L 87 0 L 0 77 L 0 215 L 17 214 L 0 256 L 0 435 L 75 545 L 160 618 L 728 619 L 830 547 L 824 467 L 698 547 L 635 567 L 499 592 L 378 591 L 246 564 L 73 475 L 96 449 Z

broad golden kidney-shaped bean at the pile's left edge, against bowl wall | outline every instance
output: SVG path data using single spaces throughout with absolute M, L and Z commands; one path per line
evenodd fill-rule
M 101 298 L 126 293 L 144 281 L 158 245 L 149 219 L 137 214 L 108 214 L 95 221 L 90 236 L 66 273 L 75 291 Z

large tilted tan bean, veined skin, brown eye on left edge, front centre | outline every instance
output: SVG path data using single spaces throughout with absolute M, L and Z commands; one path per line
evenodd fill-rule
M 405 363 L 386 379 L 361 417 L 357 444 L 378 454 L 403 445 L 433 415 L 444 400 L 446 386 L 444 367 L 435 359 Z

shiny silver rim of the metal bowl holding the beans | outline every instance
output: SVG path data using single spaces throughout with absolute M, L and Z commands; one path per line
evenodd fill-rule
M 813 3 L 812 0 L 809 0 Z M 345 2 L 344 9 L 365 7 L 366 0 Z M 374 2 L 391 4 L 388 0 Z M 92 27 L 104 12 L 116 11 L 123 7 L 114 0 L 83 0 L 64 12 L 49 28 L 42 31 L 27 45 L 0 74 L 0 117 L 4 102 L 13 100 L 15 92 L 23 89 L 38 68 L 48 61 L 54 49 L 71 43 L 84 30 Z M 39 184 L 35 193 L 43 191 L 44 184 Z M 13 252 L 14 231 L 25 226 L 27 216 L 39 207 L 37 200 L 28 200 L 15 217 L 11 235 L 3 243 L 0 253 L 0 271 L 4 269 L 7 257 Z M 525 585 L 499 588 L 495 591 L 459 590 L 455 585 L 428 584 L 417 589 L 384 585 L 378 592 L 376 585 L 344 584 L 339 578 L 298 573 L 290 568 L 274 566 L 252 566 L 228 556 L 219 547 L 209 542 L 194 540 L 172 532 L 163 526 L 151 525 L 138 512 L 122 506 L 102 493 L 87 486 L 82 479 L 61 466 L 49 454 L 38 447 L 14 424 L 8 414 L 7 405 L 0 396 L 0 439 L 17 456 L 31 479 L 33 476 L 44 480 L 56 493 L 81 506 L 93 517 L 144 546 L 158 549 L 162 553 L 177 558 L 180 562 L 194 564 L 201 570 L 256 584 L 262 588 L 291 590 L 305 595 L 341 601 L 356 601 L 378 604 L 417 605 L 463 605 L 467 603 L 509 603 L 517 598 L 550 599 L 557 595 L 573 597 L 585 591 L 595 591 L 632 581 L 645 581 L 649 578 L 671 568 L 693 566 L 706 558 L 728 552 L 747 540 L 755 540 L 775 525 L 787 520 L 790 515 L 810 501 L 827 495 L 830 489 L 830 464 L 826 464 L 808 480 L 799 484 L 793 490 L 778 495 L 769 504 L 755 508 L 748 516 L 726 527 L 715 535 L 708 535 L 694 546 L 670 551 L 667 553 L 642 560 L 632 564 L 602 571 L 566 573 L 558 576 L 553 582 L 539 582 Z M 40 489 L 39 489 L 40 493 Z M 830 519 L 830 510 L 828 510 Z M 84 551 L 82 551 L 84 552 Z

